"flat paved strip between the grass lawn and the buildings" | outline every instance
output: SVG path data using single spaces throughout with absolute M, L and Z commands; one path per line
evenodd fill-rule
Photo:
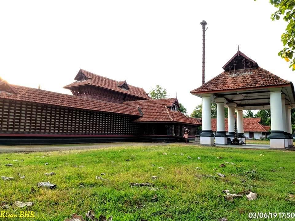
M 186 145 L 185 143 L 177 143 Z M 0 145 L 0 153 L 4 152 L 34 152 L 34 151 L 59 151 L 59 150 L 79 150 L 79 149 L 100 149 L 116 146 L 138 146 L 138 145 L 168 145 L 168 143 L 140 143 L 140 142 L 119 142 L 119 143 L 93 143 L 93 144 L 60 144 L 60 145 Z M 190 142 L 189 145 L 199 145 Z M 243 148 L 243 149 L 269 149 L 269 145 L 247 144 L 247 145 L 216 145 L 217 147 Z

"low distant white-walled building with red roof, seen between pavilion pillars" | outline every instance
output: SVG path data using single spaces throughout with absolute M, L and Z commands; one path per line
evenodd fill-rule
M 260 124 L 261 118 L 243 118 L 244 125 L 244 135 L 247 138 L 265 138 L 270 134 L 270 126 L 265 126 Z M 216 118 L 211 119 L 212 122 L 212 131 L 216 134 Z M 228 134 L 228 118 L 224 119 L 226 134 Z

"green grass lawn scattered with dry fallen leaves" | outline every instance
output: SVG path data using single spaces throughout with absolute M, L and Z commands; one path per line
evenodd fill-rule
M 260 154 L 264 156 L 259 156 Z M 198 160 L 198 157 L 201 159 Z M 0 154 L 0 176 L 11 176 L 14 180 L 0 179 L 0 200 L 9 204 L 16 200 L 33 201 L 33 206 L 26 209 L 7 210 L 7 213 L 14 214 L 24 210 L 35 212 L 35 218 L 24 220 L 65 220 L 73 213 L 83 215 L 86 219 L 85 212 L 90 209 L 97 216 L 112 215 L 113 220 L 122 221 L 218 221 L 222 217 L 235 221 L 249 220 L 249 212 L 295 211 L 295 201 L 285 200 L 289 193 L 295 193 L 294 158 L 295 152 L 292 151 L 195 145 L 3 153 Z M 126 161 L 127 159 L 130 161 Z M 233 162 L 234 165 L 225 161 Z M 49 165 L 45 165 L 45 162 Z M 13 167 L 4 166 L 8 163 L 12 163 Z M 223 163 L 226 167 L 220 168 L 219 165 Z M 200 169 L 196 169 L 197 167 Z M 213 170 L 214 168 L 217 170 Z M 253 169 L 257 173 L 247 173 Z M 56 175 L 44 175 L 51 171 Z M 195 176 L 217 176 L 217 172 L 226 177 Z M 18 173 L 25 175 L 25 179 L 20 179 Z M 100 175 L 101 173 L 105 175 Z M 96 180 L 96 176 L 107 180 Z M 151 176 L 158 178 L 153 180 Z M 37 188 L 37 182 L 45 181 L 57 184 L 57 188 Z M 155 184 L 154 188 L 159 189 L 154 191 L 149 187 L 131 187 L 130 182 L 150 182 Z M 85 188 L 79 188 L 79 185 Z M 30 193 L 31 187 L 37 192 Z M 222 193 L 224 189 L 230 190 L 230 193 L 251 189 L 258 194 L 258 198 L 248 201 L 243 196 L 229 202 Z M 158 198 L 152 200 L 155 194 Z

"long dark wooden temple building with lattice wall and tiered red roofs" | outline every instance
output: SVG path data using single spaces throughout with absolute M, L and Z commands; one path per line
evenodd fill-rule
M 201 123 L 177 98 L 151 99 L 144 89 L 80 70 L 65 86 L 73 95 L 0 79 L 0 144 L 184 141 Z

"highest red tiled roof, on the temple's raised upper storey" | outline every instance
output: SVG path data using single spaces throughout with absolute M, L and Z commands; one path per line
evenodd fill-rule
M 108 90 L 112 90 L 112 91 L 117 91 L 123 94 L 128 94 L 128 95 L 132 95 L 135 97 L 139 97 L 139 98 L 143 98 L 143 99 L 151 99 L 148 96 L 148 93 L 144 91 L 143 88 L 140 87 L 134 87 L 132 85 L 128 84 L 129 90 L 126 90 L 124 88 L 121 88 L 119 86 L 122 85 L 122 83 L 126 82 L 126 81 L 116 81 L 116 80 L 112 80 L 103 76 L 99 76 L 96 74 L 93 74 L 91 72 L 85 71 L 80 69 L 80 71 L 78 72 L 82 73 L 87 79 L 86 80 L 82 80 L 82 81 L 76 81 L 73 82 L 69 85 L 66 85 L 64 88 L 69 89 L 72 87 L 77 87 L 77 86 L 82 86 L 82 85 L 93 85 L 96 87 L 102 87 L 102 88 L 106 88 Z M 76 76 L 77 77 L 77 76 Z

